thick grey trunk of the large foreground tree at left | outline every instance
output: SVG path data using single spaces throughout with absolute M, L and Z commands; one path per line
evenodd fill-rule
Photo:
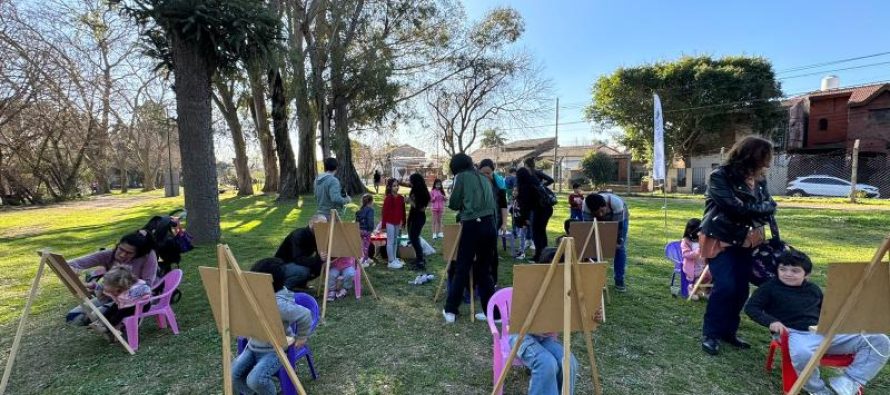
M 189 233 L 197 243 L 219 241 L 219 186 L 211 130 L 213 65 L 194 42 L 172 33 L 179 152 L 182 158 Z

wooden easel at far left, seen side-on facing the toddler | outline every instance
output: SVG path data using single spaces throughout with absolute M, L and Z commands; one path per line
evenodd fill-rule
M 90 291 L 87 290 L 82 282 L 80 282 L 80 279 L 74 271 L 71 270 L 68 263 L 65 262 L 65 258 L 61 255 L 49 252 L 49 249 L 47 248 L 38 251 L 37 255 L 40 256 L 40 264 L 37 266 L 37 275 L 34 276 L 34 281 L 31 283 L 31 290 L 28 292 L 28 299 L 25 301 L 25 309 L 22 312 L 22 318 L 19 320 L 19 327 L 15 331 L 15 338 L 12 341 L 9 358 L 6 360 L 6 368 L 3 370 L 3 379 L 0 380 L 0 394 L 5 393 L 6 386 L 9 385 L 9 377 L 12 375 L 12 366 L 13 363 L 15 363 L 15 357 L 16 354 L 18 354 L 19 347 L 21 347 L 22 336 L 25 333 L 25 324 L 28 321 L 28 315 L 31 313 L 31 305 L 37 297 L 37 289 L 40 287 L 40 279 L 43 277 L 43 269 L 45 266 L 49 266 L 53 273 L 59 277 L 59 280 L 62 281 L 62 284 L 65 284 L 65 287 L 71 291 L 74 298 L 82 303 L 81 308 L 83 309 L 84 314 L 86 314 L 87 311 L 92 311 L 93 314 L 99 318 L 99 321 L 105 325 L 108 331 L 114 335 L 118 343 L 120 343 L 130 355 L 135 354 L 133 349 L 130 348 L 130 344 L 121 336 L 121 332 L 111 325 L 102 312 L 90 301 Z

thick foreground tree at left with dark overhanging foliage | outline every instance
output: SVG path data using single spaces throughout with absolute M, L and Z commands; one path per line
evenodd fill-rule
M 279 23 L 251 0 L 114 0 L 145 28 L 153 54 L 173 70 L 189 228 L 200 243 L 219 240 L 219 190 L 211 130 L 211 81 L 249 46 L 279 38 Z

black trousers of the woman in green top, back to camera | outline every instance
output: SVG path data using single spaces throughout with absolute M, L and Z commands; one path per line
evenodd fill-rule
M 494 281 L 491 278 L 492 251 L 497 248 L 498 234 L 493 216 L 461 222 L 462 229 L 457 248 L 457 261 L 454 262 L 454 278 L 445 299 L 445 312 L 457 315 L 463 300 L 464 289 L 470 282 L 473 271 L 474 285 L 479 287 L 482 311 L 488 308 L 488 300 L 494 294 Z

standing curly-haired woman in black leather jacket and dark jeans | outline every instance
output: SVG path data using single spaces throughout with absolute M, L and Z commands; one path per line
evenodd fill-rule
M 718 353 L 721 340 L 750 348 L 736 332 L 748 300 L 752 251 L 764 242 L 764 225 L 776 211 L 764 179 L 772 151 L 769 141 L 746 137 L 708 179 L 699 241 L 714 280 L 702 328 L 702 349 L 711 355 Z

